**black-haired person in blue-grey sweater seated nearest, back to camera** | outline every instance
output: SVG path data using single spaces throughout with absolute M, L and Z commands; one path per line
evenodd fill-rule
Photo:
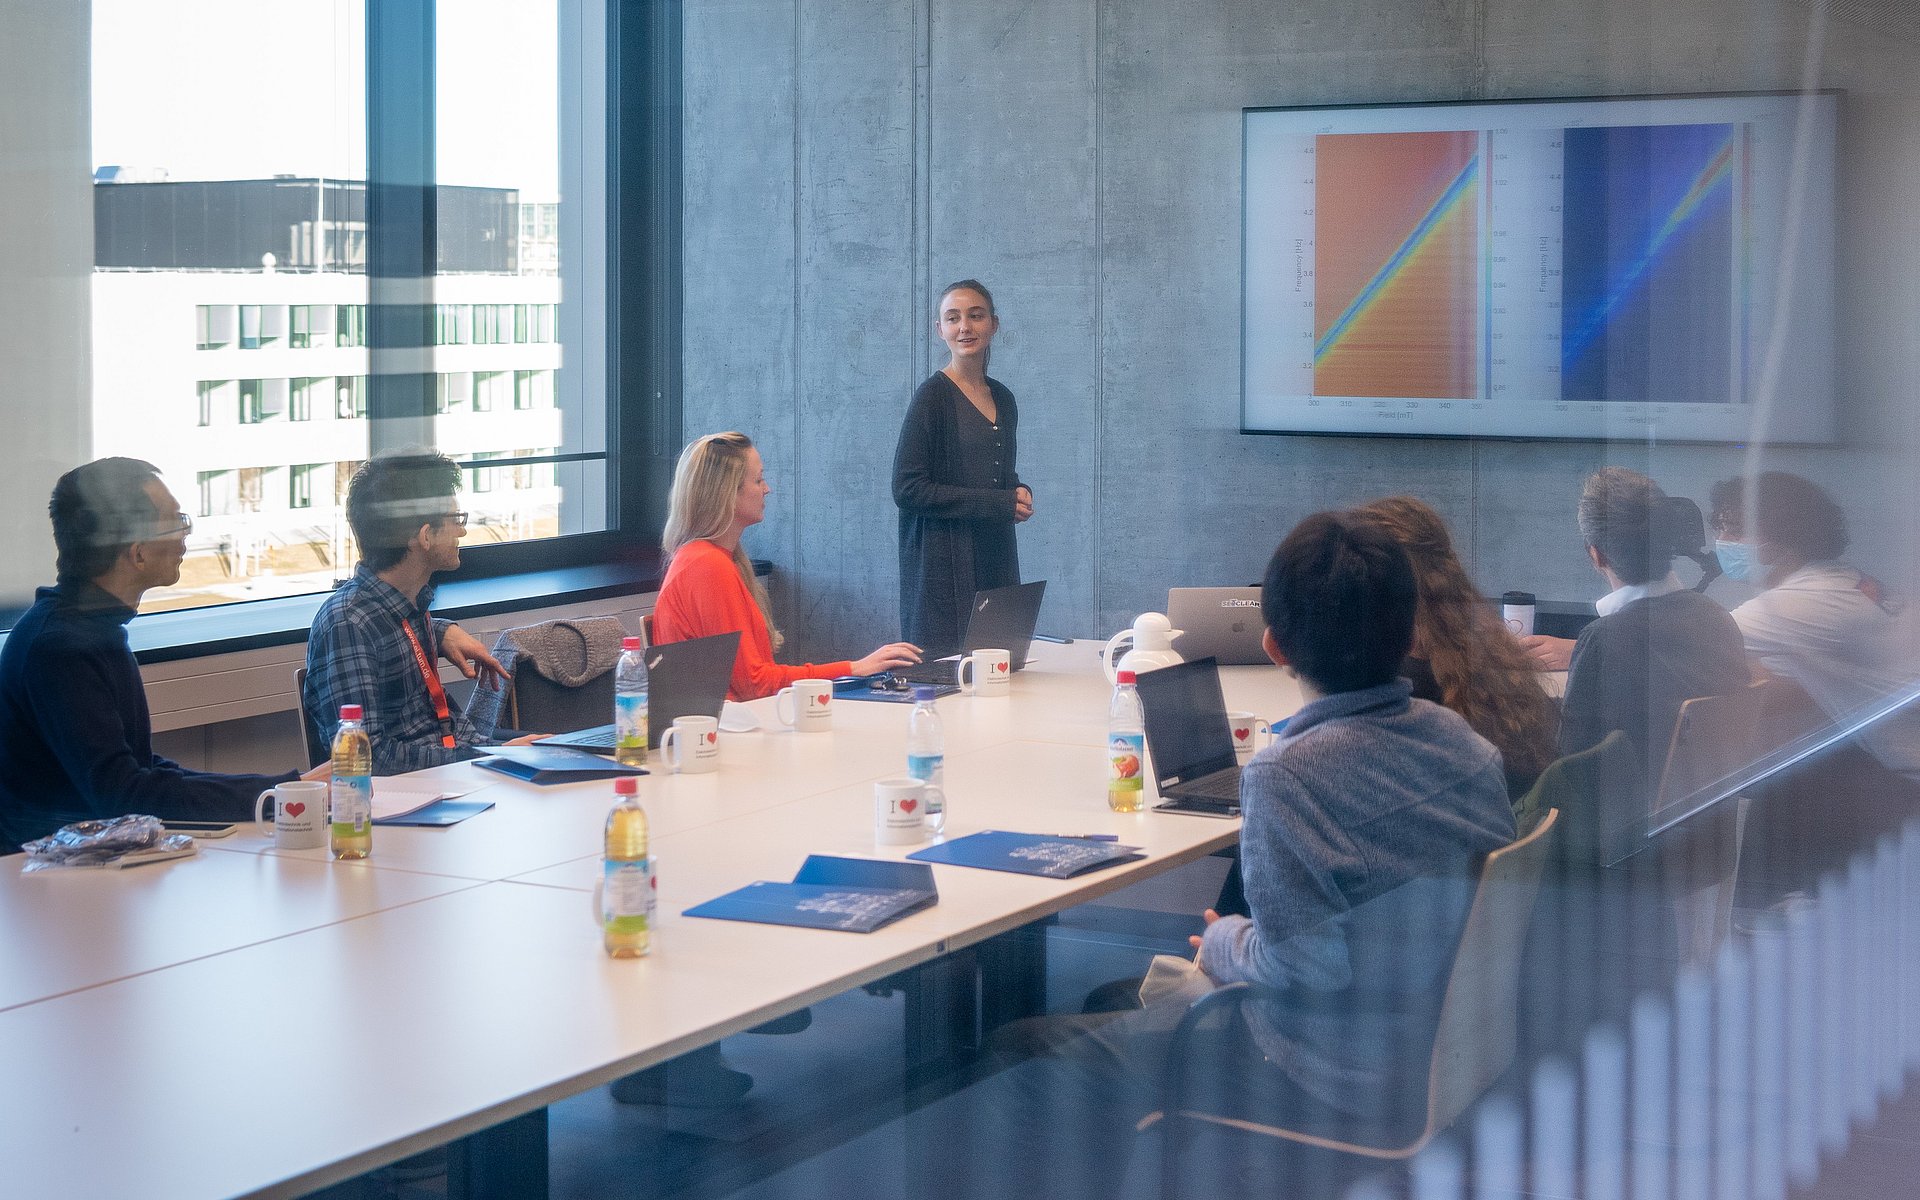
M 1156 960 L 1140 1008 L 1010 1025 L 998 1062 L 1018 1066 L 927 1112 L 952 1146 L 927 1194 L 1117 1194 L 1181 1014 L 1242 979 L 1281 995 L 1183 1064 L 1204 1106 L 1315 1133 L 1417 1127 L 1471 864 L 1515 826 L 1500 751 L 1400 678 L 1415 595 L 1377 524 L 1319 513 L 1286 536 L 1265 649 L 1306 705 L 1240 780 L 1252 916 L 1208 912 L 1196 958 Z

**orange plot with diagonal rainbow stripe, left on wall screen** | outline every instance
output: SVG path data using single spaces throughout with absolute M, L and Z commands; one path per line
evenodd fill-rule
M 1478 148 L 1473 132 L 1317 140 L 1317 396 L 1475 396 Z

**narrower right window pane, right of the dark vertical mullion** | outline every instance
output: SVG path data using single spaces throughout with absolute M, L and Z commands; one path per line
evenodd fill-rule
M 601 359 L 603 330 L 582 323 L 593 346 L 580 344 L 586 338 L 563 346 L 551 330 L 563 273 L 584 261 L 561 246 L 561 205 L 576 204 L 561 180 L 582 179 L 564 157 L 584 144 L 578 131 L 564 136 L 561 121 L 564 111 L 591 109 L 578 94 L 568 104 L 580 81 L 563 63 L 603 54 L 601 31 L 568 17 L 563 35 L 555 0 L 442 0 L 436 15 L 434 442 L 461 463 L 603 455 L 603 390 L 588 396 L 584 380 L 568 380 L 576 363 Z M 564 290 L 582 296 L 591 284 L 566 278 Z M 534 336 L 538 313 L 549 313 L 545 338 Z M 547 463 L 472 468 L 467 486 L 468 547 L 607 528 L 599 457 L 559 472 Z

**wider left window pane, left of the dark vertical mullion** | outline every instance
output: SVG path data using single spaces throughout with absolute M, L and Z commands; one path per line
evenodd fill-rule
M 367 457 L 351 386 L 367 374 L 365 2 L 92 13 L 86 457 L 152 461 L 196 513 L 180 582 L 142 609 L 323 591 L 351 561 L 336 463 Z

